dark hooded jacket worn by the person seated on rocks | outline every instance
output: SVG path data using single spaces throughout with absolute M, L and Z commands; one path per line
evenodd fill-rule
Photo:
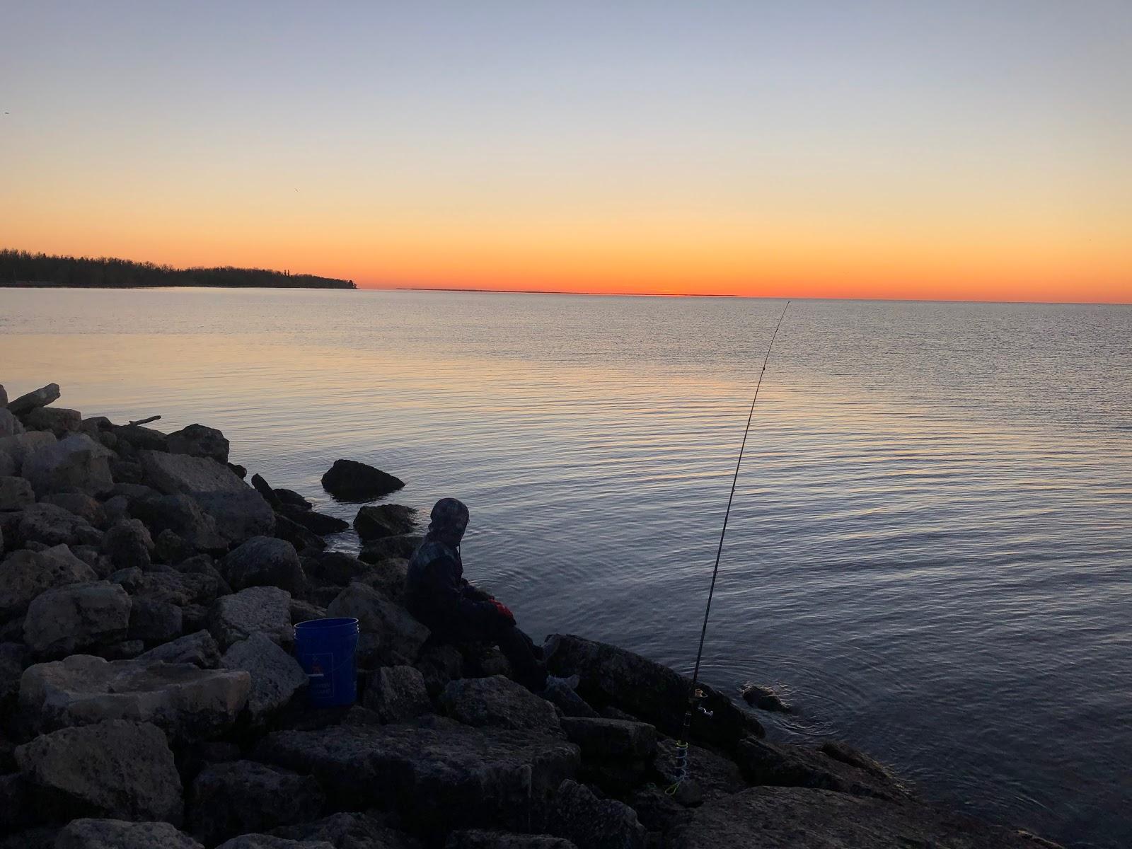
M 409 560 L 405 607 L 438 636 L 475 640 L 498 628 L 501 617 L 488 595 L 464 580 L 460 541 L 468 507 L 441 498 L 432 507 L 428 533 Z

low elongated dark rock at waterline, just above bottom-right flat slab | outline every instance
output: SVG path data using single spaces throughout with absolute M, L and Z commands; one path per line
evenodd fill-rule
M 908 797 L 887 775 L 876 775 L 805 746 L 772 744 L 751 737 L 739 743 L 735 760 L 752 784 L 809 787 L 893 800 Z

